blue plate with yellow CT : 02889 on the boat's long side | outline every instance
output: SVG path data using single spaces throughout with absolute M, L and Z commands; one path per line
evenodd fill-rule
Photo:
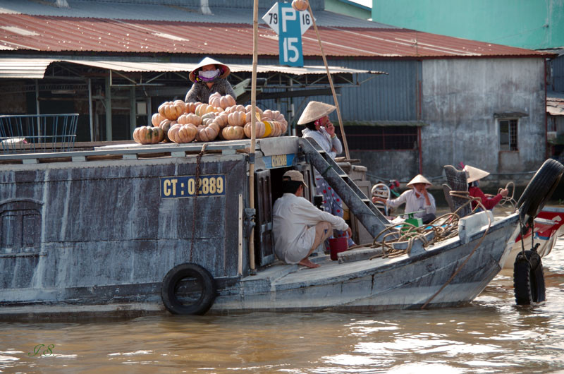
M 161 178 L 161 198 L 191 198 L 196 195 L 196 176 L 165 176 Z M 198 196 L 225 195 L 225 175 L 202 175 L 198 181 Z

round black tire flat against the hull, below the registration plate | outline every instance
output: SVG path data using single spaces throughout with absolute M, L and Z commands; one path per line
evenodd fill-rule
M 202 315 L 216 298 L 214 277 L 204 267 L 184 263 L 166 273 L 161 284 L 164 307 L 173 314 Z

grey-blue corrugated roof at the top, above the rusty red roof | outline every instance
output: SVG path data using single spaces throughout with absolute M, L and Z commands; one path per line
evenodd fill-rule
M 252 8 L 211 7 L 210 14 L 203 14 L 199 6 L 173 6 L 159 4 L 124 4 L 111 1 L 71 1 L 68 8 L 57 8 L 46 1 L 1 0 L 0 13 L 27 14 L 30 16 L 63 16 L 75 18 L 107 18 L 118 20 L 161 20 L 164 22 L 203 22 L 203 23 L 246 23 L 252 25 Z M 235 2 L 231 1 L 231 6 Z M 226 3 L 229 3 L 226 1 Z M 274 4 L 274 1 L 262 5 L 259 18 Z M 242 6 L 245 6 L 242 4 Z M 259 6 L 261 6 L 259 4 Z M 363 28 L 396 28 L 383 23 L 371 22 L 350 16 L 341 16 L 328 11 L 315 11 L 315 20 L 319 26 L 355 25 Z M 262 23 L 262 20 L 260 21 Z

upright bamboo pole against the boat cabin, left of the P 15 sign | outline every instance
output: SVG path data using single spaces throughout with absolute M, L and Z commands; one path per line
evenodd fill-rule
M 251 77 L 251 145 L 249 153 L 249 206 L 255 208 L 255 128 L 257 126 L 257 59 L 259 35 L 259 0 L 252 6 L 252 77 Z M 251 273 L 255 272 L 255 228 L 249 238 L 249 262 Z

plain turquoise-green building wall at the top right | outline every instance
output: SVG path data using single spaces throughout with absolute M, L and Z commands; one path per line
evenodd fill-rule
M 512 47 L 564 47 L 564 0 L 373 0 L 372 20 Z

